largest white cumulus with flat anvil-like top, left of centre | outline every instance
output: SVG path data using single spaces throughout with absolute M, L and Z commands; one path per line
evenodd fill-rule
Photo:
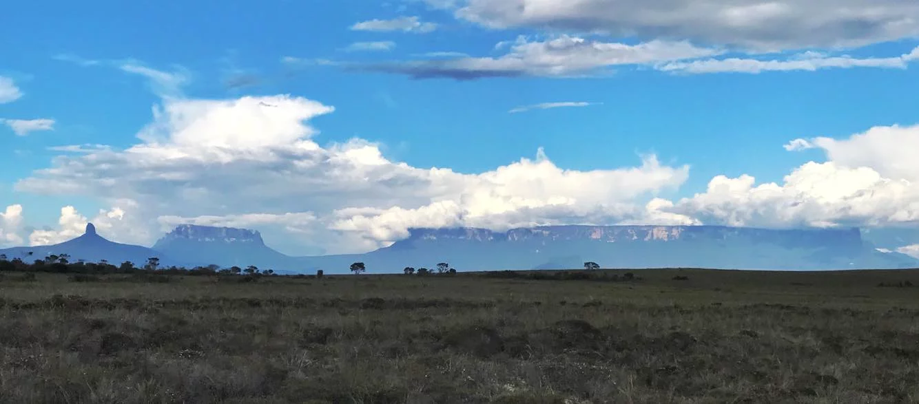
M 636 167 L 564 170 L 541 150 L 536 159 L 481 174 L 417 168 L 387 159 L 367 140 L 317 144 L 308 121 L 333 111 L 288 95 L 167 98 L 138 133 L 138 144 L 58 156 L 16 188 L 130 198 L 137 212 L 124 217 L 138 216 L 139 227 L 161 218 L 156 231 L 180 221 L 293 223 L 278 230 L 290 243 L 358 252 L 395 241 L 412 226 L 633 217 L 641 210 L 636 200 L 674 189 L 688 175 L 687 166 L 650 155 Z

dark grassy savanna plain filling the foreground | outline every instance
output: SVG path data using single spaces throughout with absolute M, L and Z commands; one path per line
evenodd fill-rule
M 919 272 L 632 272 L 5 274 L 0 402 L 919 401 Z

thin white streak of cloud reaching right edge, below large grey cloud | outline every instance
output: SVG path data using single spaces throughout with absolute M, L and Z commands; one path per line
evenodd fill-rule
M 873 67 L 905 69 L 910 62 L 919 58 L 919 48 L 910 53 L 887 58 L 853 58 L 851 56 L 827 56 L 810 52 L 792 55 L 785 60 L 759 59 L 706 59 L 691 62 L 668 62 L 655 66 L 657 70 L 671 73 L 763 73 L 763 72 L 813 72 L 822 69 L 851 69 Z

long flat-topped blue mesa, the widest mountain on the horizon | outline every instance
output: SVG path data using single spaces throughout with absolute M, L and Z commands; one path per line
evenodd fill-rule
M 398 271 L 448 262 L 459 270 L 572 269 L 592 261 L 610 268 L 702 267 L 828 270 L 919 266 L 877 251 L 858 229 L 770 230 L 723 226 L 544 226 L 507 231 L 412 229 L 376 252 L 315 257 L 334 271 L 345 261 Z

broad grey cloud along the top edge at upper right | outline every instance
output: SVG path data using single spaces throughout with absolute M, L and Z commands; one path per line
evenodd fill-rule
M 489 28 L 688 39 L 754 50 L 858 47 L 919 35 L 919 3 L 901 0 L 437 0 L 437 6 Z

